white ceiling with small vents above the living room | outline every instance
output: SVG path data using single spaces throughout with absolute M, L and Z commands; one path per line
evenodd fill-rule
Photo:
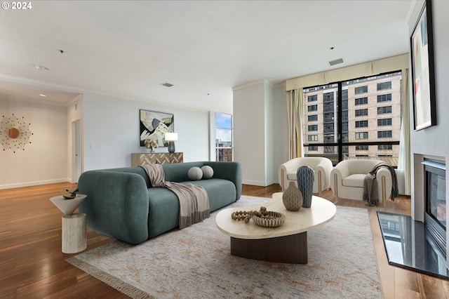
M 415 3 L 32 1 L 0 10 L 0 97 L 95 92 L 232 112 L 234 86 L 407 53 Z

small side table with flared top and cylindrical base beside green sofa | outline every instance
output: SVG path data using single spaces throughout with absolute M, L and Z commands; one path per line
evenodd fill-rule
M 74 199 L 65 199 L 62 195 L 51 197 L 62 216 L 62 253 L 78 253 L 87 248 L 86 214 L 73 212 L 86 199 L 84 194 L 76 194 Z

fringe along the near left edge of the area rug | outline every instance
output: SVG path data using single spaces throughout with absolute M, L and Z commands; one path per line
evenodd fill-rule
M 67 263 L 74 265 L 75 267 L 79 268 L 80 270 L 83 270 L 87 274 L 104 282 L 108 286 L 115 288 L 117 291 L 120 291 L 121 293 L 130 296 L 130 298 L 154 299 L 152 295 L 149 295 L 148 293 L 145 293 L 139 288 L 131 286 L 130 284 L 127 284 L 126 282 L 120 279 L 116 279 L 116 277 L 112 276 L 111 274 L 99 270 L 98 268 L 93 267 L 92 265 L 89 265 L 88 263 L 85 263 L 82 260 L 77 259 L 76 257 L 68 258 L 66 261 Z

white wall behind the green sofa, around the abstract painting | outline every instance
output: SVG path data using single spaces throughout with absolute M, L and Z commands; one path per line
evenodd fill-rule
M 184 161 L 209 160 L 209 114 L 106 95 L 83 95 L 83 171 L 130 166 L 140 147 L 139 109 L 174 114 L 176 152 Z M 159 147 L 156 152 L 168 152 Z

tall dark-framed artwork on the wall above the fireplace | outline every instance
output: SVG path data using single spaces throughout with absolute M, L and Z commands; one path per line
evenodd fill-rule
M 410 38 L 415 131 L 436 126 L 431 0 L 426 0 Z

